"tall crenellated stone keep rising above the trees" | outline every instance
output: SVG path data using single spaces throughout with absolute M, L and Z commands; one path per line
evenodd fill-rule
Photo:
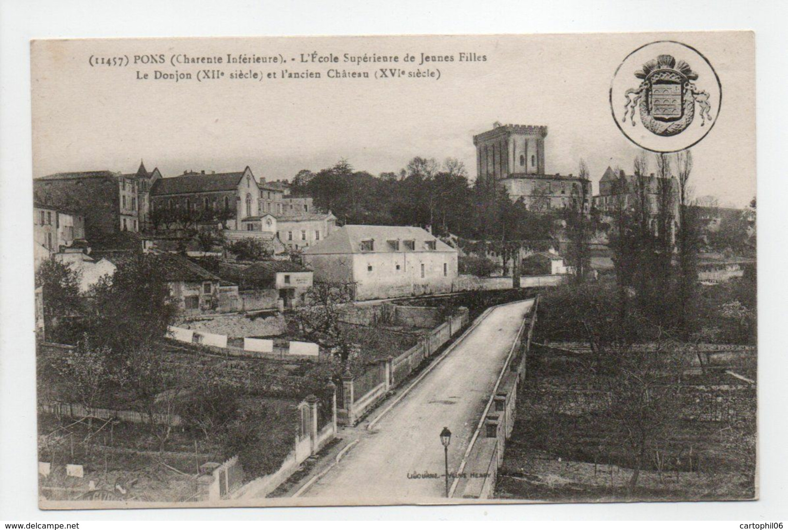
M 545 174 L 545 137 L 542 125 L 502 125 L 474 135 L 478 176 L 506 179 L 510 176 Z

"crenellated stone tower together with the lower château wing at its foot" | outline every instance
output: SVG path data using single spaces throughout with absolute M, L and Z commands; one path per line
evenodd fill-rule
M 536 211 L 561 209 L 582 202 L 591 206 L 591 181 L 580 176 L 545 171 L 544 125 L 502 125 L 474 135 L 477 178 L 503 184 L 509 198 L 522 199 Z

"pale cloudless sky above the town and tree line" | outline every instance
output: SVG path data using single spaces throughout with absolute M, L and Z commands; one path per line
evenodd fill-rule
M 692 148 L 695 195 L 745 206 L 756 190 L 754 41 L 746 32 L 38 41 L 32 48 L 33 176 L 134 172 L 143 160 L 165 177 L 249 165 L 258 178 L 280 180 L 340 158 L 357 170 L 397 172 L 421 156 L 459 158 L 474 178 L 473 135 L 499 121 L 546 125 L 546 172 L 577 174 L 584 159 L 596 193 L 608 165 L 631 172 L 639 150 L 611 117 L 613 73 L 632 50 L 659 39 L 701 51 L 723 87 L 714 128 Z M 340 62 L 299 61 L 313 51 Z M 460 52 L 487 60 L 460 62 Z M 400 62 L 357 66 L 341 62 L 345 53 L 396 54 Z M 419 66 L 422 53 L 455 61 Z M 252 65 L 262 72 L 260 81 L 228 79 L 250 65 L 133 64 L 137 55 L 158 54 L 166 61 L 173 54 L 256 54 L 287 62 Z M 406 54 L 415 63 L 403 62 Z M 91 66 L 91 56 L 128 56 L 129 64 Z M 440 79 L 325 76 L 329 68 L 372 75 L 392 66 L 437 69 Z M 152 79 L 156 70 L 195 76 L 214 68 L 225 78 Z M 282 69 L 324 75 L 282 80 Z M 267 79 L 269 72 L 277 79 Z M 147 80 L 138 79 L 145 74 Z

